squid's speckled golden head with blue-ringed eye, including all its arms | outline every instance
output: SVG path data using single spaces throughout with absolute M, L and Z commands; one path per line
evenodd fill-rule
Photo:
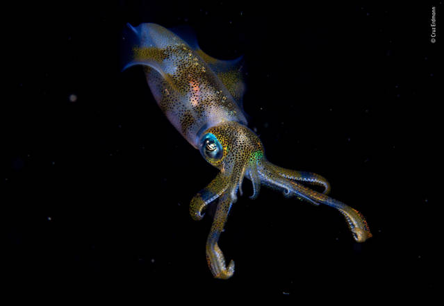
M 236 202 L 238 192 L 242 195 L 241 185 L 245 177 L 249 178 L 253 185 L 253 195 L 250 198 L 258 196 L 261 185 L 279 189 L 286 196 L 295 196 L 315 205 L 335 207 L 345 216 L 356 241 L 363 242 L 372 237 L 360 212 L 327 196 L 330 185 L 322 176 L 284 169 L 268 162 L 261 140 L 247 126 L 226 121 L 208 128 L 200 137 L 199 151 L 207 162 L 220 169 L 216 178 L 192 198 L 190 205 L 192 218 L 200 220 L 204 216 L 206 206 L 219 199 L 206 241 L 206 258 L 215 278 L 230 278 L 234 272 L 234 262 L 226 265 L 217 241 L 227 221 L 231 205 Z M 300 182 L 320 185 L 324 187 L 324 192 L 316 192 Z

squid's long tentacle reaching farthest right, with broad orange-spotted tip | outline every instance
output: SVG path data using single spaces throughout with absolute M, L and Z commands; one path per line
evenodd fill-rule
M 287 196 L 294 195 L 310 203 L 321 203 L 336 208 L 345 216 L 354 239 L 358 242 L 363 242 L 372 237 L 367 221 L 365 221 L 364 216 L 360 212 L 334 198 L 284 178 L 275 170 L 275 167 L 270 162 L 262 162 L 261 167 L 258 168 L 259 176 L 265 185 L 281 188 Z

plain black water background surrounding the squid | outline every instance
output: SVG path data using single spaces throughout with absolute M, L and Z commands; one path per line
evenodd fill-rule
M 2 248 L 17 296 L 342 300 L 438 290 L 441 203 L 429 190 L 442 4 L 307 2 L 4 8 L 12 94 L 1 113 Z M 251 201 L 245 180 L 220 239 L 236 273 L 213 279 L 211 209 L 192 221 L 188 203 L 217 170 L 164 117 L 142 69 L 120 71 L 126 22 L 189 24 L 211 56 L 244 55 L 245 111 L 268 160 L 326 177 L 374 237 L 357 244 L 336 210 L 270 189 Z

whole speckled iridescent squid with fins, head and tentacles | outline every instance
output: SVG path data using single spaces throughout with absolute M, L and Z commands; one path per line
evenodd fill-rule
M 192 219 L 204 217 L 206 207 L 217 208 L 206 240 L 206 260 L 215 278 L 231 278 L 234 262 L 225 261 L 217 242 L 224 230 L 231 205 L 242 195 L 242 180 L 253 185 L 256 198 L 261 185 L 285 196 L 314 205 L 336 208 L 347 221 L 357 242 L 372 237 L 364 216 L 352 207 L 327 196 L 329 182 L 305 171 L 278 167 L 265 158 L 261 139 L 247 127 L 242 108 L 245 84 L 242 61 L 217 60 L 199 48 L 195 35 L 183 28 L 167 29 L 158 24 L 127 24 L 122 35 L 124 69 L 141 65 L 147 83 L 167 119 L 220 170 L 191 200 Z M 306 185 L 317 185 L 317 192 Z

